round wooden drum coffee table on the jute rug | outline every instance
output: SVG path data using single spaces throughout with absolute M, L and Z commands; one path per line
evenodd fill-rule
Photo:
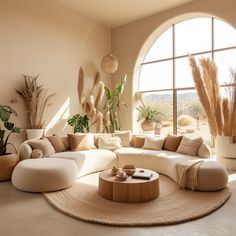
M 104 170 L 99 175 L 99 194 L 115 202 L 135 203 L 155 199 L 159 195 L 159 174 L 152 170 L 136 168 L 136 171 L 139 170 L 152 173 L 152 177 L 146 180 L 129 176 L 125 181 L 120 181 L 111 174 L 111 169 Z

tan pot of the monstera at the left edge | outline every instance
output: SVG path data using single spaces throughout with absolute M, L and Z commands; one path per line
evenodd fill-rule
M 0 156 L 0 181 L 10 180 L 12 171 L 18 163 L 17 154 Z

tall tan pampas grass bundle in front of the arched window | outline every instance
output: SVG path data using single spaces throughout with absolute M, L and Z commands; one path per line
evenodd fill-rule
M 223 98 L 220 93 L 216 64 L 208 58 L 201 58 L 199 67 L 192 56 L 189 62 L 212 136 L 236 135 L 236 71 L 231 70 L 231 83 L 226 88 L 228 96 Z

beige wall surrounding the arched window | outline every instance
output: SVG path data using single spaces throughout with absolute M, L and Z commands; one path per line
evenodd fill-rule
M 139 68 L 135 68 L 135 65 L 138 64 L 136 63 L 138 58 L 142 61 L 154 36 L 160 35 L 171 24 L 193 16 L 215 16 L 235 27 L 235 8 L 235 0 L 197 0 L 112 30 L 112 53 L 119 61 L 119 69 L 114 75 L 113 84 L 117 83 L 122 75 L 128 75 L 125 93 L 122 96 L 128 105 L 128 109 L 123 110 L 121 114 L 123 129 L 137 127 L 136 120 L 132 116 L 135 112 L 132 106 L 135 104 L 134 93 L 139 73 Z

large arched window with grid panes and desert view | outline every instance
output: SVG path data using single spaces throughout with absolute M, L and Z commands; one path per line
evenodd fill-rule
M 213 59 L 222 87 L 236 66 L 236 30 L 215 18 L 173 24 L 148 50 L 141 63 L 139 92 L 143 101 L 165 115 L 161 134 L 177 133 L 211 140 L 194 88 L 188 54 Z M 223 91 L 223 88 L 222 88 Z

